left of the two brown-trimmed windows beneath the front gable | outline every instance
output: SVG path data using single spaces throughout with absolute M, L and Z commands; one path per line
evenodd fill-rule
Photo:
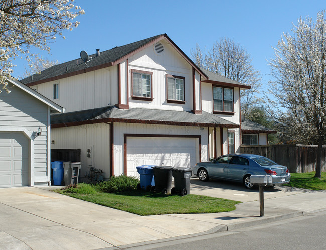
M 131 99 L 151 101 L 153 72 L 132 69 L 131 74 Z

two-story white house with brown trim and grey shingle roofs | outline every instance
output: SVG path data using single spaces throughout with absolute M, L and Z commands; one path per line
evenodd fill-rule
M 51 147 L 81 149 L 89 167 L 137 176 L 143 164 L 191 167 L 240 152 L 240 84 L 196 66 L 166 35 L 73 60 L 23 79 L 66 108 Z

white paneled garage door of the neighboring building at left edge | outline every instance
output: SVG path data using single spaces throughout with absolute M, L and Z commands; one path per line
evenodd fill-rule
M 20 132 L 0 132 L 0 187 L 29 185 L 29 142 Z

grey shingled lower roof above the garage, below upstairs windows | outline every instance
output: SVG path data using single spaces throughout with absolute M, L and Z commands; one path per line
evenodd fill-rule
M 100 122 L 126 122 L 229 128 L 240 127 L 238 124 L 204 111 L 202 114 L 193 114 L 187 111 L 145 108 L 119 109 L 115 106 L 108 106 L 51 115 L 51 128 Z

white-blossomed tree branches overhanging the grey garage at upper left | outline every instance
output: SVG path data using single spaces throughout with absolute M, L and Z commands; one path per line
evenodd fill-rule
M 13 60 L 17 57 L 38 58 L 31 47 L 50 52 L 53 42 L 63 30 L 72 30 L 79 22 L 72 22 L 84 14 L 73 0 L 0 0 L 0 85 L 8 93 L 6 78 L 13 79 Z M 41 59 L 42 60 L 42 59 Z M 1 90 L 0 90 L 1 91 Z

